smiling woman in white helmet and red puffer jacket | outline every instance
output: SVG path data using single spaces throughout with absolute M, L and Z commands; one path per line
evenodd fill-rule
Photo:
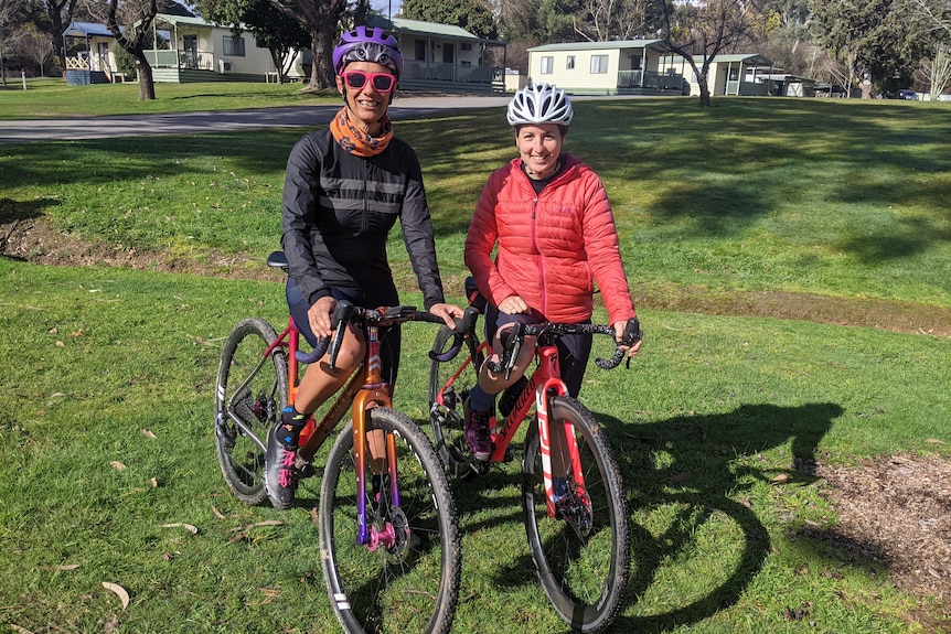
M 596 283 L 618 341 L 635 316 L 605 186 L 589 166 L 562 151 L 573 117 L 568 96 L 549 84 L 526 86 L 509 104 L 519 158 L 489 176 L 464 254 L 489 300 L 487 336 L 494 350 L 500 350 L 496 332 L 506 324 L 590 322 Z M 559 337 L 558 347 L 563 378 L 577 397 L 591 337 Z M 628 354 L 640 347 L 639 341 Z M 481 368 L 466 404 L 466 440 L 477 459 L 488 460 L 492 451 L 495 395 L 522 377 L 533 355 L 534 345 L 525 345 L 507 379 Z

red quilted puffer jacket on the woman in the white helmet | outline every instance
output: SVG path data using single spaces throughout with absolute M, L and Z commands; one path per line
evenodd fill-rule
M 577 323 L 591 316 L 597 281 L 610 323 L 630 319 L 605 186 L 577 158 L 564 158 L 565 169 L 537 197 L 520 159 L 489 176 L 466 237 L 466 266 L 495 305 L 517 294 L 548 321 Z

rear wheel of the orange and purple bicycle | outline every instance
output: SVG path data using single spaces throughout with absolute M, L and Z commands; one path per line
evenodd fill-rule
M 215 447 L 228 488 L 245 504 L 260 504 L 267 434 L 287 406 L 287 355 L 265 351 L 277 335 L 248 318 L 228 335 L 215 386 Z

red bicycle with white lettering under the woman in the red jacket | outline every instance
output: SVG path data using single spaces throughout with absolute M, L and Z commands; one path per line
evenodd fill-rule
M 484 299 L 467 280 L 470 304 Z M 597 632 L 621 609 L 630 571 L 630 528 L 620 471 L 607 436 L 590 411 L 567 394 L 560 378 L 555 340 L 566 334 L 605 334 L 608 325 L 542 323 L 516 324 L 503 334 L 503 351 L 494 374 L 511 372 L 526 336 L 537 337 L 536 364 L 499 399 L 499 413 L 490 419 L 492 452 L 489 461 L 471 458 L 464 439 L 463 404 L 478 380 L 478 370 L 491 355 L 489 342 L 479 342 L 474 326 L 464 334 L 469 354 L 460 365 L 434 358 L 429 370 L 430 425 L 434 444 L 450 476 L 485 473 L 492 463 L 513 460 L 512 441 L 534 408 L 522 459 L 522 506 L 528 548 L 542 587 L 559 616 L 574 630 Z M 624 344 L 641 336 L 632 319 Z M 432 346 L 440 352 L 458 345 L 459 335 L 440 329 Z M 451 348 L 450 348 L 451 350 Z M 597 358 L 603 369 L 617 367 L 624 351 L 616 346 L 610 359 Z M 629 359 L 630 362 L 630 359 Z M 563 496 L 556 499 L 554 477 Z

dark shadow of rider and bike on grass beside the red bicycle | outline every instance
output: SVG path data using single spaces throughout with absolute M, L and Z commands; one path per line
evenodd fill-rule
M 747 494 L 759 482 L 798 486 L 814 482 L 818 447 L 843 408 L 831 402 L 744 405 L 722 415 L 649 423 L 624 423 L 594 413 L 609 434 L 634 516 L 624 612 L 640 598 L 650 597 L 658 576 L 670 573 L 671 568 L 685 566 L 690 570 L 685 574 L 716 577 L 715 587 L 704 595 L 681 598 L 680 604 L 676 598 L 666 598 L 659 605 L 673 601 L 671 610 L 644 616 L 622 614 L 609 630 L 647 633 L 698 622 L 739 600 L 771 550 L 769 533 Z M 761 455 L 786 445 L 786 464 Z M 650 527 L 641 524 L 655 515 L 662 519 Z M 724 522 L 731 523 L 738 536 L 733 551 L 704 550 L 698 534 L 707 524 L 717 530 L 716 525 Z M 715 557 L 728 563 L 712 566 Z M 691 562 L 692 558 L 707 561 Z M 717 569 L 719 576 L 712 574 Z

